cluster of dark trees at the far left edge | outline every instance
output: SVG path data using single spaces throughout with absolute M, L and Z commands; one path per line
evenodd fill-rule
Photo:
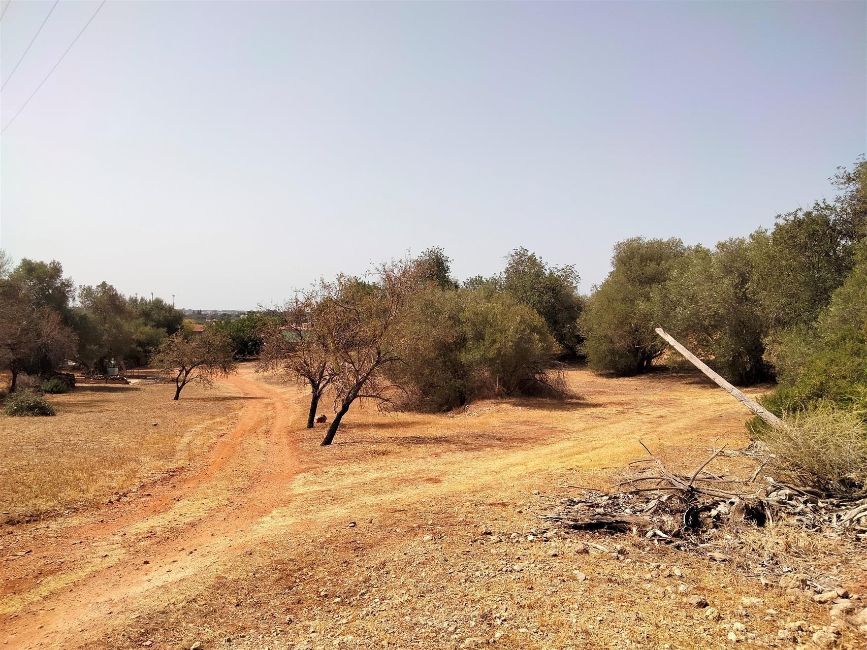
M 89 372 L 125 361 L 147 363 L 184 318 L 160 298 L 123 296 L 108 283 L 75 287 L 61 263 L 23 259 L 13 266 L 0 251 L 0 368 L 48 374 L 64 360 Z

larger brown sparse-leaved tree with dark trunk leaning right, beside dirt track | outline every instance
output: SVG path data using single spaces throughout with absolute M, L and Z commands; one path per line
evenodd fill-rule
M 400 361 L 391 334 L 408 296 L 418 287 L 417 273 L 413 263 L 397 260 L 377 267 L 372 283 L 343 275 L 320 283 L 316 328 L 336 389 L 336 415 L 323 445 L 334 440 L 355 400 L 375 400 L 378 406 L 385 406 L 400 390 L 383 378 L 381 370 Z

